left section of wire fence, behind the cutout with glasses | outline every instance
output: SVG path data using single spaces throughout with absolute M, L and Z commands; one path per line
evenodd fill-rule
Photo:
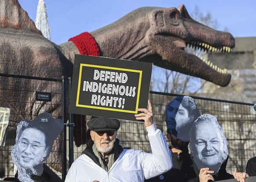
M 6 143 L 5 146 L 0 146 L 0 180 L 14 177 L 17 171 L 17 167 L 12 163 L 11 149 L 15 144 L 17 124 L 21 120 L 33 120 L 43 112 L 52 113 L 53 117 L 66 120 L 66 109 L 63 109 L 66 108 L 65 83 L 65 77 L 57 80 L 0 74 L 0 106 L 11 108 Z M 40 92 L 50 93 L 51 101 L 38 101 L 36 95 Z M 50 157 L 44 164 L 44 170 L 51 175 L 52 181 L 61 182 L 62 175 L 66 175 L 63 173 L 66 167 L 63 165 L 66 164 L 64 144 L 62 132 L 55 140 Z

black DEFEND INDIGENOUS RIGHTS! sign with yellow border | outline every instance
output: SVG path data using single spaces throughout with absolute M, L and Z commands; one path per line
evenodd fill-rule
M 147 108 L 151 72 L 152 63 L 75 55 L 69 113 L 136 120 L 136 109 Z

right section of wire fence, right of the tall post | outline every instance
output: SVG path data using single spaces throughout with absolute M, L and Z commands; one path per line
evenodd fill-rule
M 165 107 L 176 96 L 183 95 L 150 91 L 154 123 L 157 128 L 161 129 L 164 135 L 166 135 L 167 131 L 165 124 Z M 216 116 L 219 124 L 223 128 L 229 151 L 229 160 L 226 167 L 227 172 L 233 174 L 234 169 L 245 171 L 246 163 L 249 158 L 256 156 L 256 112 L 253 109 L 253 104 L 191 97 L 193 97 L 197 103 L 201 114 L 208 113 Z M 89 121 L 90 116 L 87 116 L 79 125 L 83 125 L 85 120 Z M 79 129 L 79 131 L 76 131 L 76 129 Z M 89 134 L 86 132 L 87 130 L 82 131 L 81 128 L 74 127 L 74 135 L 76 135 L 76 133 L 78 134 L 74 137 L 82 141 L 80 143 L 85 143 L 86 139 L 88 139 Z M 84 134 L 84 136 L 82 136 L 82 134 Z M 143 122 L 121 120 L 121 127 L 117 132 L 117 138 L 124 148 L 151 152 Z M 171 145 L 169 141 L 167 142 L 168 145 Z M 85 147 L 85 144 L 79 147 L 74 145 L 74 159 L 81 155 Z

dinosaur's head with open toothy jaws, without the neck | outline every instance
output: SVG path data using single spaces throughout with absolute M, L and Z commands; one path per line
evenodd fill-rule
M 161 61 L 154 64 L 166 69 L 200 77 L 220 86 L 230 83 L 227 69 L 219 68 L 199 56 L 187 52 L 186 47 L 204 51 L 228 53 L 235 46 L 234 37 L 202 25 L 190 17 L 186 7 L 159 8 L 153 13 L 154 25 L 149 40 Z

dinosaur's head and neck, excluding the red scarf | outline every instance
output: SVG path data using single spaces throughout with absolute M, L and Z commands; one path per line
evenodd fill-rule
M 142 7 L 101 29 L 91 32 L 100 56 L 143 62 L 200 77 L 220 86 L 230 83 L 227 70 L 184 51 L 187 45 L 208 51 L 230 52 L 235 45 L 230 33 L 194 21 L 182 4 L 178 8 Z M 80 54 L 73 42 L 60 44 L 73 62 Z M 72 50 L 72 51 L 70 51 Z

